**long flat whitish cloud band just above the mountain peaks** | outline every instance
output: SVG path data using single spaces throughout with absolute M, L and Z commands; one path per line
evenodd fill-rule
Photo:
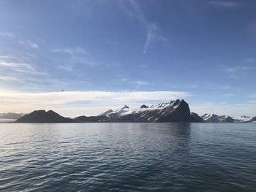
M 146 101 L 172 100 L 190 96 L 180 91 L 64 91 L 49 93 L 0 93 L 9 102 L 68 104 L 75 101 Z

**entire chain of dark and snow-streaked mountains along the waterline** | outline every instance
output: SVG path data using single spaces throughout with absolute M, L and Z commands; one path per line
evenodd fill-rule
M 97 116 L 79 116 L 64 118 L 52 110 L 37 110 L 24 115 L 16 123 L 104 123 L 104 122 L 193 122 L 193 123 L 256 123 L 256 117 L 241 116 L 234 119 L 227 115 L 208 114 L 201 117 L 190 112 L 186 101 L 175 100 L 167 103 L 153 104 L 151 107 L 143 104 L 139 109 L 131 110 L 127 105 L 121 109 L 108 110 Z

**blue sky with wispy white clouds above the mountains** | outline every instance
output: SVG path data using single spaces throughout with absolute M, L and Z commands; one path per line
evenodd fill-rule
M 184 99 L 256 116 L 256 1 L 0 1 L 0 112 Z M 63 90 L 63 91 L 62 91 Z

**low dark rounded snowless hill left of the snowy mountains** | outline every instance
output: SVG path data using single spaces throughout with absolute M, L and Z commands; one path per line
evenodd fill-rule
M 15 121 L 16 123 L 75 123 L 75 120 L 64 118 L 52 110 L 46 112 L 45 110 L 37 110 L 24 115 Z

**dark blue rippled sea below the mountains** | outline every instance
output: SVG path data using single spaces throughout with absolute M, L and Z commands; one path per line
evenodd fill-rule
M 0 191 L 256 191 L 256 123 L 0 123 Z

